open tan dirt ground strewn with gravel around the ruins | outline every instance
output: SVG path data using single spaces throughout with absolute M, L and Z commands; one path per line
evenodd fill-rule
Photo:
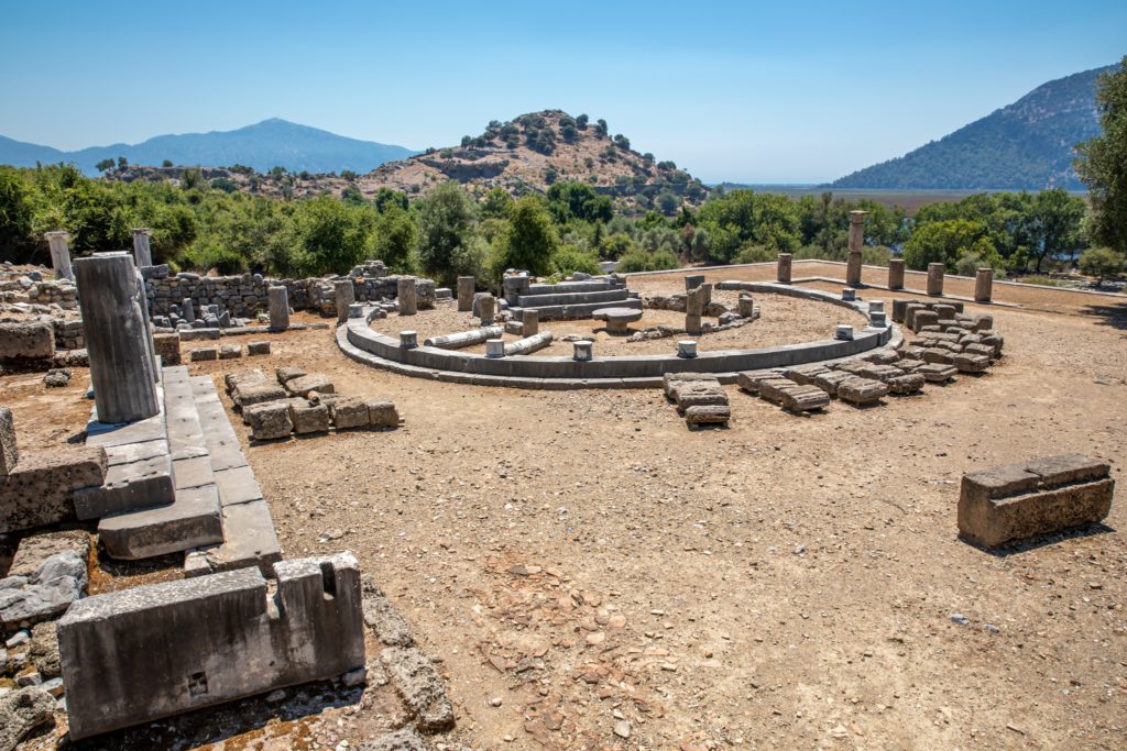
M 224 373 L 296 365 L 399 406 L 398 429 L 265 444 L 229 414 L 284 555 L 352 551 L 443 661 L 458 725 L 435 749 L 1121 749 L 1122 491 L 1104 525 L 995 553 L 956 535 L 965 472 L 1079 452 L 1122 482 L 1127 319 L 1075 314 L 1093 299 L 968 304 L 1005 336 L 982 376 L 810 417 L 729 386 L 730 426 L 699 431 L 656 390 L 403 378 L 323 330 L 189 370 L 222 393 Z M 2 381 L 23 447 L 79 437 L 83 379 Z M 168 748 L 232 751 L 344 749 L 396 722 L 325 696 L 157 725 Z

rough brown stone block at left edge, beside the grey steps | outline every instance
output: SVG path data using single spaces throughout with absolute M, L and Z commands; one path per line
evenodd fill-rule
M 25 454 L 0 481 L 0 534 L 74 519 L 74 491 L 101 485 L 108 467 L 100 446 Z

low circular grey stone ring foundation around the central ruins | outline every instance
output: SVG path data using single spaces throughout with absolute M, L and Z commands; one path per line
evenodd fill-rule
M 739 283 L 739 289 L 827 302 L 869 318 L 866 303 L 846 302 L 816 289 L 763 283 Z M 666 373 L 715 373 L 721 383 L 735 383 L 736 373 L 740 370 L 851 359 L 886 346 L 898 348 L 904 341 L 896 327 L 869 325 L 852 340 L 824 339 L 763 349 L 716 350 L 694 358 L 676 355 L 593 357 L 589 360 L 571 357 L 487 358 L 436 347 L 405 349 L 397 339 L 376 333 L 369 327 L 376 309 L 365 307 L 364 312 L 364 318 L 349 319 L 337 330 L 337 345 L 358 363 L 400 375 L 449 383 L 550 391 L 649 388 L 659 386 Z

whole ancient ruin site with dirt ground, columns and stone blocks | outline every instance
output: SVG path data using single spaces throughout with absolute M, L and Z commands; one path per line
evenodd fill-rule
M 1127 297 L 864 266 L 863 217 L 489 289 L 47 233 L 0 751 L 1124 748 Z

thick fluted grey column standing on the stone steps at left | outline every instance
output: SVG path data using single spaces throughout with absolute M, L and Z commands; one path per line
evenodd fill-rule
M 157 415 L 157 373 L 133 259 L 126 252 L 82 258 L 74 261 L 74 276 L 98 420 L 134 422 Z

